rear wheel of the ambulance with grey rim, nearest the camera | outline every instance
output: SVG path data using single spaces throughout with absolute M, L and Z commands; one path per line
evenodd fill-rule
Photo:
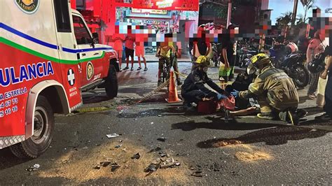
M 42 125 L 39 126 L 40 130 L 38 131 L 35 126 L 34 136 L 26 141 L 23 141 L 22 143 L 10 146 L 11 152 L 13 152 L 15 156 L 22 159 L 39 157 L 48 149 L 53 138 L 53 129 L 55 124 L 54 115 L 50 103 L 48 103 L 45 96 L 38 97 L 34 117 L 35 124 L 36 120 L 41 120 L 39 123 Z M 38 136 L 36 136 L 37 132 L 39 134 Z

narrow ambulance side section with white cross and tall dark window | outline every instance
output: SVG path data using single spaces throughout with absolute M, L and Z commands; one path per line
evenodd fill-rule
M 68 0 L 54 0 L 55 21 L 57 24 L 57 45 L 62 71 L 62 85 L 66 90 L 69 107 L 74 110 L 82 104 L 80 63 L 76 55 L 77 45 L 72 28 L 71 9 Z

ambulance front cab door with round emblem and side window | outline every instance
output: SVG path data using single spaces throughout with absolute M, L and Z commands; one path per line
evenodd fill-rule
M 81 62 L 82 84 L 89 85 L 99 79 L 103 72 L 102 48 L 95 48 L 90 30 L 83 21 L 83 17 L 73 13 L 74 34 L 76 38 L 78 53 Z

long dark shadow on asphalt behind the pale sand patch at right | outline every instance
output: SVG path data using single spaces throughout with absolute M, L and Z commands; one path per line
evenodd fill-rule
M 244 134 L 237 138 L 216 138 L 202 141 L 197 144 L 198 148 L 219 148 L 218 143 L 228 141 L 240 141 L 242 144 L 261 143 L 266 145 L 282 145 L 288 141 L 302 140 L 305 138 L 318 138 L 327 134 L 328 131 L 308 129 L 300 127 L 282 126 L 269 129 L 261 129 Z

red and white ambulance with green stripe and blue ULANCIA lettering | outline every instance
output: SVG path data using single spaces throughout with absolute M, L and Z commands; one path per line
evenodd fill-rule
M 53 138 L 54 113 L 71 113 L 96 87 L 117 95 L 118 57 L 69 0 L 1 0 L 0 8 L 0 149 L 36 158 Z

